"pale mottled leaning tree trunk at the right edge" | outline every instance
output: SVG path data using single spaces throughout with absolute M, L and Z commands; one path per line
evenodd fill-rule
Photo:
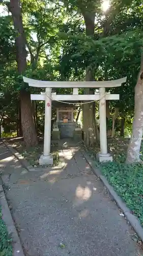
M 132 136 L 127 151 L 127 163 L 140 162 L 139 151 L 142 140 L 143 130 L 143 60 L 141 60 L 141 68 L 135 86 L 134 97 L 134 120 Z

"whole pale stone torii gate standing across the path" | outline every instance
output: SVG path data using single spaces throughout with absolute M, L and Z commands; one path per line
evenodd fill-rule
M 127 77 L 112 81 L 41 81 L 23 77 L 23 81 L 29 86 L 46 88 L 45 93 L 31 94 L 31 100 L 45 100 L 45 127 L 44 127 L 44 151 L 39 159 L 40 165 L 53 164 L 50 154 L 51 140 L 51 100 L 55 101 L 93 101 L 99 100 L 100 118 L 100 151 L 98 160 L 112 161 L 112 156 L 107 153 L 107 134 L 106 134 L 106 100 L 119 100 L 119 94 L 105 92 L 105 88 L 120 87 L 126 82 Z M 52 88 L 73 88 L 73 95 L 56 95 L 51 93 Z M 99 88 L 99 93 L 93 95 L 78 95 L 78 88 Z

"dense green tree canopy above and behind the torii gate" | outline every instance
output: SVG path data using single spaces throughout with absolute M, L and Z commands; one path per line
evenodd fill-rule
M 80 0 L 28 0 L 21 1 L 21 6 L 27 54 L 25 75 L 43 80 L 84 80 L 85 69 L 90 67 L 96 80 L 127 76 L 126 84 L 112 89 L 112 92 L 120 93 L 120 101 L 110 102 L 110 118 L 117 107 L 119 122 L 121 117 L 132 122 L 143 35 L 141 2 L 110 1 L 105 13 L 100 1 L 91 1 L 88 5 Z M 85 35 L 85 11 L 95 14 L 93 37 Z M 15 130 L 20 130 L 19 90 L 26 84 L 17 73 L 16 31 L 11 13 L 6 14 L 9 15 L 0 17 L 0 106 L 1 113 L 5 111 L 15 123 Z M 36 89 L 31 91 L 37 92 Z M 60 89 L 60 92 L 64 93 L 64 90 Z M 36 104 L 37 125 L 42 131 L 44 102 Z

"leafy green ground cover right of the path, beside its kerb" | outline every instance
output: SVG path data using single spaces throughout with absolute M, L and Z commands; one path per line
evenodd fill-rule
M 140 158 L 143 144 L 140 147 Z M 126 164 L 126 152 L 119 154 L 113 162 L 102 163 L 100 168 L 117 193 L 124 199 L 132 213 L 138 217 L 143 227 L 143 166 Z

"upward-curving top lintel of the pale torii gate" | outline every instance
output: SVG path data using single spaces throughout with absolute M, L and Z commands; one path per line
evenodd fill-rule
M 119 87 L 126 82 L 127 77 L 111 81 L 41 81 L 23 76 L 23 81 L 32 87 L 44 88 L 105 88 Z

